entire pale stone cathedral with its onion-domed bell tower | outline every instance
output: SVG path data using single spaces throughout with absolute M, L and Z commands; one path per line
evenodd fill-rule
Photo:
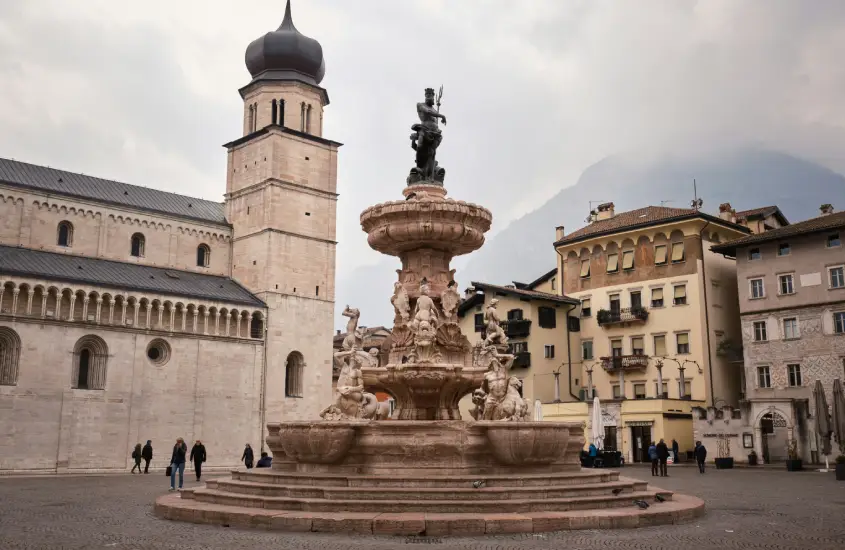
M 0 474 L 210 467 L 331 400 L 337 152 L 322 48 L 247 48 L 217 203 L 0 159 Z

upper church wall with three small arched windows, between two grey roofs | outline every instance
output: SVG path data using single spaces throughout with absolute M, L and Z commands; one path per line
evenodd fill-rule
M 58 245 L 62 221 L 73 226 L 69 247 Z M 140 258 L 130 254 L 135 233 L 145 239 Z M 0 244 L 229 275 L 230 240 L 222 225 L 0 186 Z M 200 244 L 211 250 L 208 267 L 197 266 Z

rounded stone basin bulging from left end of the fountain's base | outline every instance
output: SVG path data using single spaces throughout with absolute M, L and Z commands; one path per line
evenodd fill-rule
M 284 422 L 268 424 L 273 443 L 290 460 L 302 464 L 335 464 L 342 461 L 355 442 L 355 428 L 362 422 Z M 270 444 L 271 448 L 274 446 Z

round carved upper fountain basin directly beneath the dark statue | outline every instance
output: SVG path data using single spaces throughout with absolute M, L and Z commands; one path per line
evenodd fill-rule
M 492 222 L 482 206 L 436 196 L 380 203 L 361 213 L 370 247 L 391 256 L 420 248 L 468 254 L 481 248 Z

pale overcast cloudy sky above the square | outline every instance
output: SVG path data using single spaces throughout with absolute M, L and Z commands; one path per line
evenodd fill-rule
M 0 1 L 0 156 L 222 200 L 244 50 L 283 13 Z M 609 154 L 760 144 L 845 172 L 843 1 L 294 0 L 293 15 L 323 46 L 324 133 L 345 143 L 339 278 L 379 260 L 358 214 L 401 196 L 425 87 L 445 89 L 446 187 L 494 231 Z

